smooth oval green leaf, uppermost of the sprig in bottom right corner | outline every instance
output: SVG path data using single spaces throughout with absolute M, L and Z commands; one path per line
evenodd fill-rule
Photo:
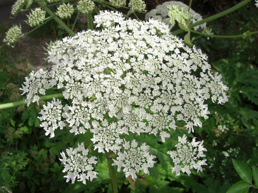
M 233 166 L 235 170 L 237 171 L 238 175 L 242 180 L 245 182 L 252 184 L 252 172 L 249 166 L 247 166 L 245 163 L 241 161 L 237 161 L 235 159 L 232 159 Z

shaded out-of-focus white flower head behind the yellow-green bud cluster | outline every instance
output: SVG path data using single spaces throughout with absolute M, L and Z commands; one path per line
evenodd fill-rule
M 145 15 L 145 20 L 149 20 L 149 18 L 153 18 L 155 20 L 163 21 L 167 25 L 170 25 L 170 27 L 174 27 L 175 23 L 170 24 L 170 18 L 169 18 L 169 10 L 167 6 L 178 6 L 178 8 L 183 8 L 184 12 L 188 11 L 188 5 L 183 4 L 180 1 L 166 1 L 162 5 L 158 5 L 155 9 L 152 9 Z M 196 13 L 190 8 L 189 11 L 189 18 L 192 23 L 196 23 L 198 21 L 201 21 L 203 18 L 199 13 Z M 198 28 L 204 28 L 206 27 L 206 23 L 203 23 L 201 25 L 193 27 L 194 30 L 197 30 Z

